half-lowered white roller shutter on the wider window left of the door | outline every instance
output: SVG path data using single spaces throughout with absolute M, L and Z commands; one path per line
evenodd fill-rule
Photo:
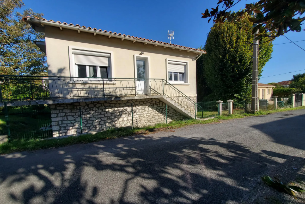
M 93 66 L 109 66 L 109 57 L 74 54 L 74 63 Z

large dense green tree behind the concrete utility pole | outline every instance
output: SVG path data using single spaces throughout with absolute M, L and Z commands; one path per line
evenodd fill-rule
M 199 87 L 207 86 L 210 93 L 204 96 L 205 100 L 251 99 L 252 26 L 246 18 L 238 22 L 214 23 L 204 46 L 207 54 L 197 63 Z M 272 46 L 271 42 L 259 46 L 259 76 L 271 58 Z M 199 89 L 199 99 L 203 98 L 200 92 Z

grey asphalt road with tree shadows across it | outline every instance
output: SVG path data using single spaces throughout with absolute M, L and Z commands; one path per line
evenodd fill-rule
M 302 109 L 1 155 L 0 203 L 239 203 L 303 155 L 304 119 Z

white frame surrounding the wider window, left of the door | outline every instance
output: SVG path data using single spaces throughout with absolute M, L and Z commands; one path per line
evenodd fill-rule
M 107 69 L 107 74 L 108 74 L 108 78 L 104 78 L 104 81 L 113 81 L 112 78 L 114 78 L 113 76 L 113 67 L 114 67 L 114 55 L 113 55 L 113 51 L 109 51 L 109 50 L 98 50 L 98 49 L 91 49 L 91 48 L 85 48 L 85 47 L 74 47 L 74 46 L 69 46 L 69 63 L 70 63 L 70 77 L 72 77 L 72 80 L 81 80 L 81 81 L 101 81 L 103 80 L 102 78 L 100 78 L 101 73 L 100 73 L 100 69 L 99 67 L 104 67 L 104 66 L 96 66 L 97 67 L 97 74 L 98 74 L 98 78 L 84 78 L 84 77 L 78 77 L 78 70 L 77 70 L 77 64 L 74 63 L 74 54 L 73 52 L 77 52 L 77 54 L 85 54 L 85 55 L 90 55 L 90 53 L 88 52 L 95 52 L 99 55 L 102 54 L 106 54 L 106 55 L 110 55 L 109 56 L 109 66 Z M 94 54 L 93 54 L 94 56 Z M 87 71 L 87 75 L 89 75 L 89 66 L 91 65 L 87 65 L 87 64 L 80 64 L 80 65 L 86 65 L 86 71 Z M 90 79 L 89 79 L 90 78 Z

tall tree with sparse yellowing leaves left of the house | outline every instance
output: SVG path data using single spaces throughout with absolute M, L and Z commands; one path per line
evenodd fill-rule
M 46 75 L 45 54 L 33 41 L 44 40 L 44 33 L 34 31 L 22 21 L 23 16 L 42 18 L 42 13 L 26 9 L 21 0 L 0 0 L 0 74 Z

